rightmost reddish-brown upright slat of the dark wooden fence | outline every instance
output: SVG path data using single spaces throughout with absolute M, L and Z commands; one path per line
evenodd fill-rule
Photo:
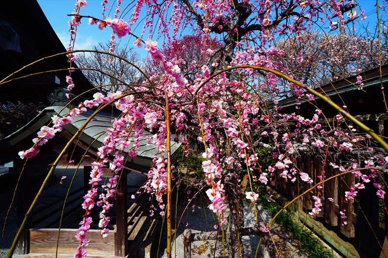
M 355 176 L 351 173 L 348 173 L 344 176 L 344 182 L 341 181 L 341 183 L 342 196 L 345 196 L 345 191 L 349 191 L 349 186 L 355 185 Z M 346 219 L 341 219 L 341 233 L 349 238 L 354 238 L 356 236 L 355 226 L 353 225 L 351 219 L 352 212 L 355 211 L 354 202 L 354 199 L 343 199 L 341 202 L 341 211 L 344 212 L 347 216 Z

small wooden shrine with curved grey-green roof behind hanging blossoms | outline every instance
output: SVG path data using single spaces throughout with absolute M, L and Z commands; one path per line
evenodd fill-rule
M 77 116 L 71 124 L 64 125 L 62 132 L 50 139 L 47 144 L 41 146 L 40 152 L 36 157 L 27 160 L 27 162 L 26 159 L 21 160 L 17 152 L 31 148 L 31 140 L 36 137 L 36 133 L 40 130 L 41 126 L 49 125 L 50 118 L 53 115 L 58 113 L 64 115 L 66 111 L 68 111 L 68 109 L 66 111 L 62 109 L 62 106 L 47 107 L 26 126 L 20 128 L 14 134 L 0 140 L 0 164 L 5 164 L 5 166 L 9 167 L 10 173 L 20 175 L 22 172 L 21 180 L 17 187 L 17 227 L 20 226 L 25 213 L 32 202 L 31 177 L 48 173 L 49 168 L 58 157 L 58 153 L 64 149 L 66 143 L 72 138 L 74 133 L 81 128 L 81 125 L 93 112 L 84 112 Z M 111 126 L 111 121 L 114 116 L 115 114 L 107 111 L 98 113 L 97 116 L 93 118 L 93 121 L 89 122 L 82 131 L 81 136 L 74 140 L 71 147 L 65 152 L 65 155 L 58 164 L 63 166 L 69 165 L 73 168 L 79 165 L 83 167 L 84 187 L 70 193 L 71 195 L 74 195 L 73 202 L 76 202 L 77 200 L 81 202 L 80 205 L 77 205 L 78 208 L 65 210 L 65 214 L 67 214 L 68 218 L 72 217 L 71 214 L 76 214 L 74 213 L 75 211 L 81 209 L 82 196 L 90 189 L 89 174 L 92 170 L 90 164 L 96 161 L 97 148 L 102 145 L 104 132 Z M 155 235 L 158 232 L 158 222 L 148 216 L 148 197 L 144 195 L 134 201 L 127 199 L 127 175 L 134 172 L 147 174 L 152 166 L 153 157 L 158 154 L 157 150 L 153 148 L 153 145 L 149 145 L 145 139 L 147 135 L 151 134 L 144 131 L 143 140 L 140 141 L 141 146 L 137 149 L 138 155 L 136 157 L 129 157 L 128 149 L 125 150 L 125 153 L 122 153 L 126 162 L 124 163 L 124 169 L 122 170 L 123 172 L 117 186 L 115 205 L 110 211 L 110 213 L 115 212 L 115 214 L 111 214 L 113 226 L 110 228 L 109 235 L 102 239 L 101 233 L 97 230 L 97 225 L 94 225 L 95 229 L 91 229 L 87 236 L 90 240 L 89 245 L 85 247 L 88 254 L 103 257 L 126 257 L 129 253 L 133 255 L 135 252 L 141 252 L 144 256 L 144 253 L 147 252 L 145 250 L 146 248 L 154 248 L 151 243 L 155 240 Z M 179 144 L 175 142 L 172 142 L 171 145 L 172 152 L 179 146 Z M 70 160 L 74 160 L 74 162 L 69 164 Z M 108 160 L 109 162 L 112 162 L 113 156 L 109 156 Z M 109 166 L 109 163 L 107 164 Z M 104 176 L 106 176 L 109 167 L 104 167 L 103 170 L 105 173 Z M 141 199 L 142 197 L 143 200 Z M 63 200 L 64 198 L 61 200 L 62 205 Z M 48 206 L 49 207 L 43 207 L 42 211 L 47 208 L 52 209 L 52 205 Z M 70 208 L 70 205 L 68 205 L 68 207 Z M 93 211 L 99 212 L 98 208 L 99 207 L 95 207 L 92 210 L 91 216 L 98 217 L 98 214 L 93 214 Z M 59 210 L 61 209 L 62 206 Z M 39 217 L 38 213 L 44 213 L 44 217 Z M 49 210 L 49 212 L 33 212 L 28 227 L 24 230 L 24 235 L 19 239 L 14 257 L 27 254 L 55 255 L 58 228 L 33 228 L 34 225 L 47 219 L 52 213 L 55 213 L 55 209 L 54 211 Z M 70 220 L 69 223 L 64 223 L 64 227 L 62 227 L 60 231 L 58 254 L 61 254 L 61 256 L 72 257 L 79 245 L 79 242 L 74 236 L 79 226 L 78 222 L 82 218 L 82 213 L 77 214 L 73 216 L 74 219 Z M 96 219 L 93 221 L 96 223 Z M 51 226 L 52 225 L 55 224 L 51 223 Z M 93 224 L 91 228 L 93 228 Z M 148 250 L 148 252 L 149 251 L 150 250 Z

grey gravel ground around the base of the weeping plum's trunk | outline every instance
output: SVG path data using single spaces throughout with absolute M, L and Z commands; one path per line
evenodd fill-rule
M 183 200 L 181 200 L 183 201 Z M 203 201 L 203 200 L 202 200 Z M 203 231 L 214 231 L 213 226 L 215 225 L 215 213 L 211 212 L 209 208 L 207 208 L 207 204 L 201 204 L 200 201 L 195 203 L 195 207 L 193 208 L 194 203 L 190 204 L 189 211 L 184 213 L 182 222 L 180 224 L 180 228 L 177 232 L 176 241 L 172 247 L 172 257 L 175 258 L 183 258 L 183 232 L 185 228 L 189 228 L 192 230 L 192 233 L 203 232 Z M 199 207 L 200 209 L 199 209 Z M 256 224 L 256 215 L 254 212 L 253 205 L 246 205 L 246 210 L 244 212 L 244 227 L 254 227 Z M 250 207 L 249 207 L 250 206 Z M 265 208 L 261 205 L 258 205 L 258 210 L 261 212 L 261 215 L 264 218 L 264 221 L 268 223 L 271 220 L 270 213 L 265 210 Z M 181 214 L 184 210 L 184 207 L 178 208 L 178 214 Z M 175 214 L 175 211 L 172 212 Z M 229 211 L 226 210 L 224 214 L 224 218 L 227 220 L 227 216 Z M 179 216 L 180 217 L 180 216 Z M 179 219 L 178 217 L 178 219 Z M 175 220 L 175 216 L 173 216 L 173 221 Z M 262 221 L 261 217 L 258 215 L 258 221 Z M 164 223 L 165 224 L 165 223 Z M 165 225 L 164 225 L 165 228 Z M 276 243 L 276 247 L 279 251 L 279 254 L 282 258 L 307 258 L 307 256 L 299 255 L 295 252 L 295 248 L 297 246 L 297 240 L 290 233 L 285 232 L 279 225 L 273 225 L 270 227 L 270 232 L 273 236 L 274 242 Z M 161 246 L 159 248 L 159 258 L 166 258 L 167 254 L 165 252 L 165 237 L 162 236 Z M 244 258 L 253 258 L 255 257 L 256 249 L 259 243 L 259 236 L 251 235 L 251 236 L 243 236 L 242 244 L 244 246 Z M 271 249 L 271 257 L 276 258 L 274 244 L 270 243 Z M 221 258 L 223 256 L 223 244 L 222 238 L 217 240 L 206 240 L 206 241 L 195 241 L 192 242 L 192 258 L 207 258 L 207 257 L 215 257 Z M 225 256 L 228 257 L 227 250 L 225 250 Z M 259 246 L 258 258 L 262 257 L 261 246 Z

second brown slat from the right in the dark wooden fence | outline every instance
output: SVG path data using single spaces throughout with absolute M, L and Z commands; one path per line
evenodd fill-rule
M 334 169 L 330 165 L 326 165 L 326 178 L 334 175 Z M 338 217 L 336 214 L 336 205 L 338 205 L 338 178 L 334 178 L 325 183 L 324 186 L 324 221 L 330 226 L 338 226 Z M 329 201 L 328 198 L 332 198 L 333 201 Z

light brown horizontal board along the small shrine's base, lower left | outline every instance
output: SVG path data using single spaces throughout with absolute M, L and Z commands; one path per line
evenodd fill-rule
M 88 254 L 114 255 L 114 235 L 115 230 L 110 231 L 105 238 L 97 229 L 91 229 L 86 233 L 89 244 L 84 247 Z M 58 241 L 59 254 L 74 254 L 80 242 L 74 237 L 77 229 L 61 229 Z M 30 252 L 55 254 L 58 238 L 57 228 L 30 229 Z

